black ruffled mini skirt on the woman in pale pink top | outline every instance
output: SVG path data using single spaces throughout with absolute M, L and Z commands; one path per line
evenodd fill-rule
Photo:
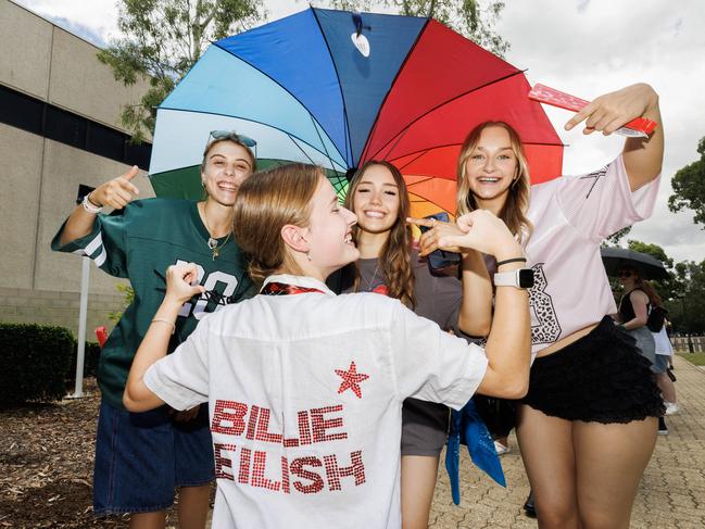
M 553 417 L 603 424 L 665 412 L 651 363 L 608 316 L 579 340 L 536 358 L 520 402 Z

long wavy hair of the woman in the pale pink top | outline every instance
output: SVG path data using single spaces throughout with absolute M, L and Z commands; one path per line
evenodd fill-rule
M 504 206 L 498 215 L 504 224 L 506 224 L 509 231 L 518 237 L 519 242 L 526 243 L 531 237 L 533 225 L 526 216 L 529 210 L 529 194 L 531 189 L 531 181 L 529 179 L 529 164 L 527 163 L 521 138 L 519 134 L 505 122 L 484 122 L 475 127 L 465 138 L 461 154 L 457 159 L 457 194 L 455 205 L 457 207 L 457 216 L 465 215 L 471 211 L 477 210 L 477 202 L 475 196 L 470 191 L 469 178 L 466 178 L 465 165 L 467 160 L 475 151 L 475 148 L 480 141 L 480 136 L 486 128 L 500 127 L 506 130 L 509 135 L 512 144 L 512 152 L 517 159 L 517 172 L 514 175 L 514 181 L 509 187 Z

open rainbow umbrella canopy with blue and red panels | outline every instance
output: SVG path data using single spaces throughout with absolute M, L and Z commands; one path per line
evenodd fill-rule
M 261 167 L 322 165 L 339 194 L 367 160 L 404 174 L 413 213 L 455 211 L 467 133 L 502 119 L 520 134 L 532 181 L 561 174 L 563 144 L 523 72 L 423 17 L 307 9 L 213 43 L 158 109 L 158 196 L 197 198 L 211 130 L 257 141 Z

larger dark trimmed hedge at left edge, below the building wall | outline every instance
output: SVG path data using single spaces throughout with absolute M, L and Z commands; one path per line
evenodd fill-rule
M 75 340 L 68 329 L 0 324 L 0 404 L 64 396 L 75 351 Z

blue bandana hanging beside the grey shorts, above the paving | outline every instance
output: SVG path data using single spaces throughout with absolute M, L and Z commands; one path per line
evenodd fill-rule
M 494 441 L 484 426 L 484 421 L 477 413 L 475 403 L 470 400 L 456 412 L 451 411 L 451 431 L 448 436 L 445 451 L 445 471 L 451 481 L 453 503 L 461 503 L 461 444 L 466 444 L 473 463 L 487 473 L 494 481 L 506 487 L 504 471 L 500 456 L 494 450 Z

